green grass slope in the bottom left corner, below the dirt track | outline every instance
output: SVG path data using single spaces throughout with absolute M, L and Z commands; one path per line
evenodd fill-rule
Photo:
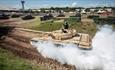
M 29 61 L 0 48 L 0 70 L 47 70 L 35 61 Z

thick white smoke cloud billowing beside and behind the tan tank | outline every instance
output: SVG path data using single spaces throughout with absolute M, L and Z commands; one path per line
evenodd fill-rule
M 31 44 L 43 57 L 75 65 L 77 70 L 115 70 L 115 32 L 107 25 L 96 33 L 92 50 L 81 50 L 75 44 L 55 45 L 51 40 Z

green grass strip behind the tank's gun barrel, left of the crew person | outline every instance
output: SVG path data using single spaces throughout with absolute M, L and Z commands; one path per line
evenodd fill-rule
M 24 23 L 21 25 L 23 28 L 33 29 L 33 30 L 40 30 L 40 31 L 53 31 L 60 29 L 62 27 L 63 22 L 51 22 L 52 20 L 48 21 L 40 21 L 40 18 L 37 17 L 35 21 Z

